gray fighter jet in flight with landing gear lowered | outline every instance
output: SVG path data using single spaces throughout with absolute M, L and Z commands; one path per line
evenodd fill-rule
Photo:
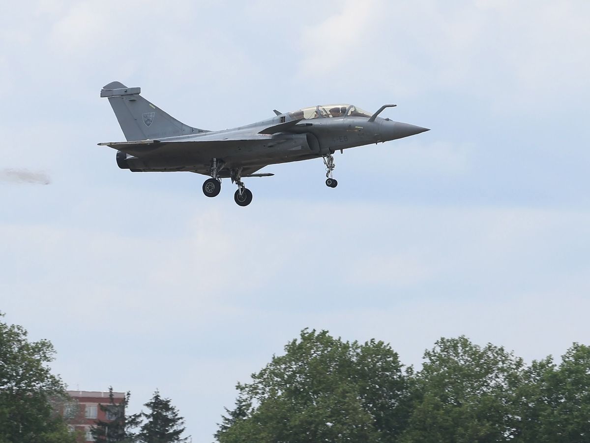
M 323 158 L 326 185 L 335 188 L 334 154 L 354 148 L 428 131 L 394 122 L 353 105 L 324 105 L 282 113 L 273 118 L 223 131 L 185 125 L 139 95 L 139 87 L 112 82 L 103 87 L 126 142 L 99 143 L 117 149 L 117 165 L 132 172 L 189 171 L 208 175 L 203 193 L 215 197 L 221 179 L 237 184 L 235 203 L 247 206 L 252 193 L 244 177 L 268 177 L 257 171 L 267 165 Z

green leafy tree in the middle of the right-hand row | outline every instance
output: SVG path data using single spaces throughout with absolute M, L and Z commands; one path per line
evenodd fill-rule
M 503 347 L 441 338 L 412 380 L 403 442 L 501 442 L 518 434 L 523 361 Z

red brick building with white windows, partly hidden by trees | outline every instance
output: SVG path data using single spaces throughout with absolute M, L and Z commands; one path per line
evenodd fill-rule
M 113 417 L 101 411 L 99 405 L 109 405 L 108 392 L 96 392 L 87 390 L 68 390 L 73 399 L 64 405 L 63 415 L 72 429 L 82 431 L 81 442 L 94 441 L 90 428 L 96 425 L 97 420 L 108 422 Z M 113 392 L 114 402 L 119 404 L 125 398 L 123 392 Z

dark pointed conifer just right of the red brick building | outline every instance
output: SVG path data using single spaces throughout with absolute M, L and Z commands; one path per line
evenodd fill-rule
M 140 412 L 138 420 L 145 419 L 141 425 L 137 438 L 142 443 L 175 443 L 186 442 L 188 438 L 181 438 L 185 427 L 184 419 L 179 415 L 171 400 L 162 398 L 158 390 L 152 399 L 144 405 L 149 412 Z

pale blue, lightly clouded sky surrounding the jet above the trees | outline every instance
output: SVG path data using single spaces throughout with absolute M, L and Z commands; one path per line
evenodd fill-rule
M 0 311 L 70 389 L 155 389 L 209 443 L 303 328 L 406 365 L 590 344 L 586 0 L 31 0 L 0 15 Z M 120 170 L 112 81 L 225 129 L 320 103 L 430 128 L 202 194 Z

